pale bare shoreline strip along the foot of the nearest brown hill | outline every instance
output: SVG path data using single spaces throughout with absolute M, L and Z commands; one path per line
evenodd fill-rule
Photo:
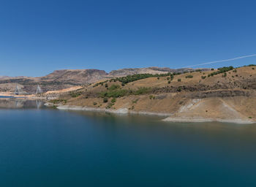
M 45 103 L 45 106 L 53 106 L 53 104 Z M 147 112 L 147 111 L 129 111 L 127 108 L 120 108 L 118 110 L 111 109 L 103 109 L 103 108 L 94 108 L 94 107 L 82 107 L 75 105 L 59 105 L 56 107 L 58 110 L 80 110 L 80 111 L 91 111 L 91 112 L 110 112 L 119 115 L 127 115 L 127 114 L 137 114 L 137 115 L 158 115 L 167 117 L 162 119 L 162 121 L 166 122 L 178 122 L 178 123 L 200 123 L 200 122 L 222 122 L 222 123 L 238 123 L 238 124 L 251 124 L 256 123 L 256 121 L 244 120 L 241 118 L 236 119 L 221 119 L 221 118 L 188 118 L 184 117 L 174 117 L 172 113 L 164 113 L 164 112 Z

